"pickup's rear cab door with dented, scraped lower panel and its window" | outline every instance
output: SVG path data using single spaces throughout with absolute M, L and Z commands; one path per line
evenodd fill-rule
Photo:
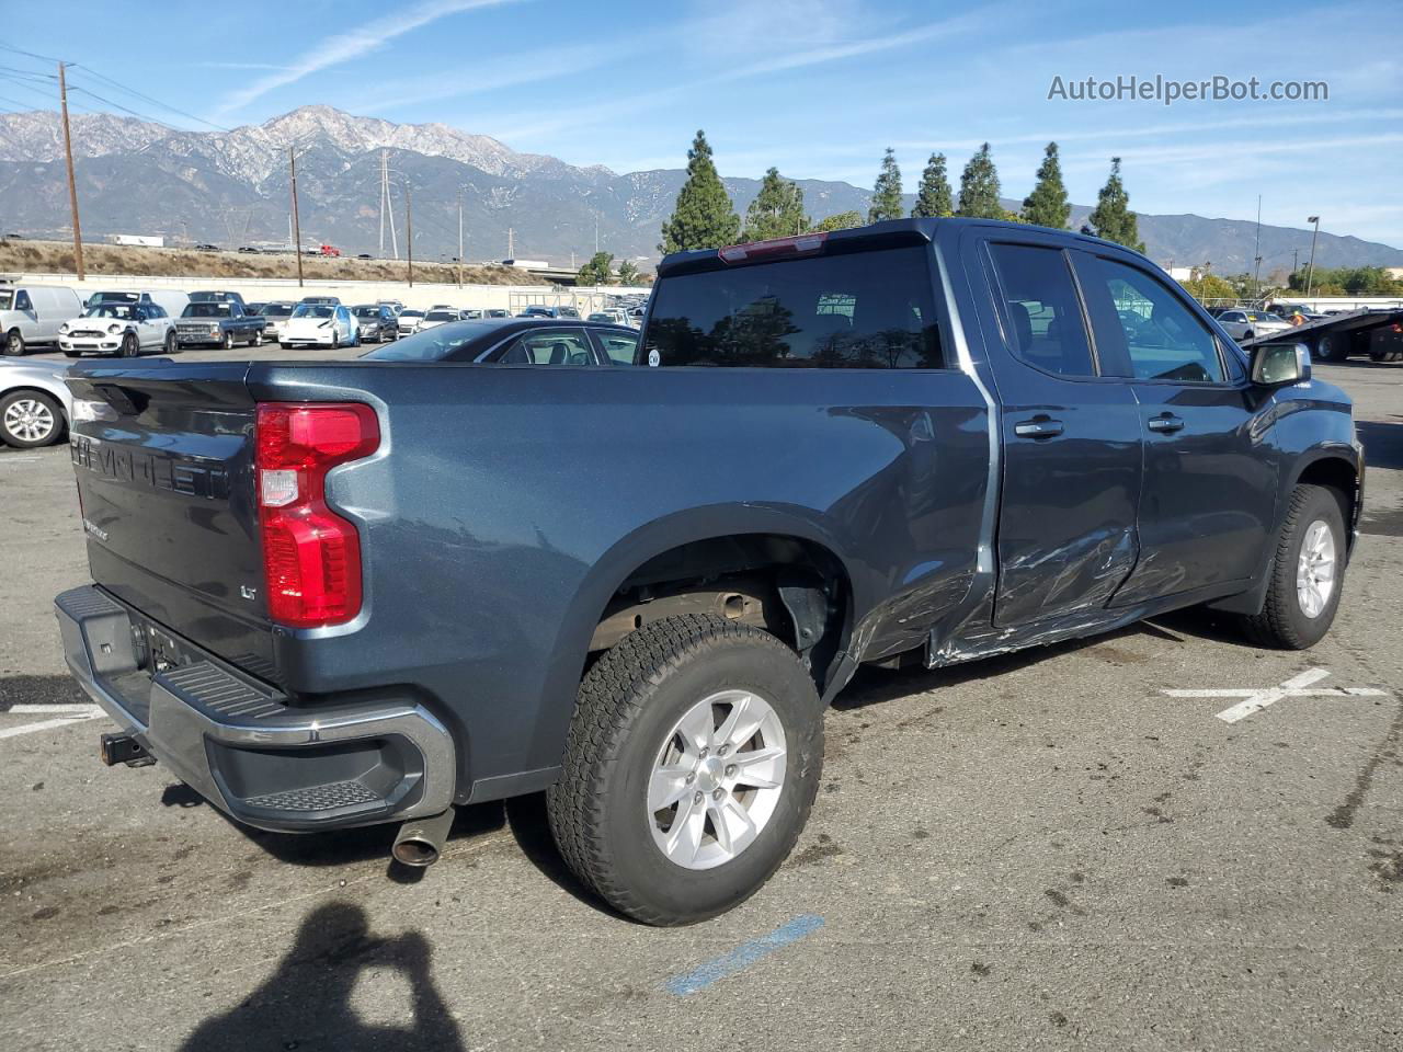
M 1019 234 L 979 255 L 1003 404 L 993 620 L 1012 628 L 1104 607 L 1129 575 L 1141 424 L 1134 393 L 1101 375 L 1062 244 Z

